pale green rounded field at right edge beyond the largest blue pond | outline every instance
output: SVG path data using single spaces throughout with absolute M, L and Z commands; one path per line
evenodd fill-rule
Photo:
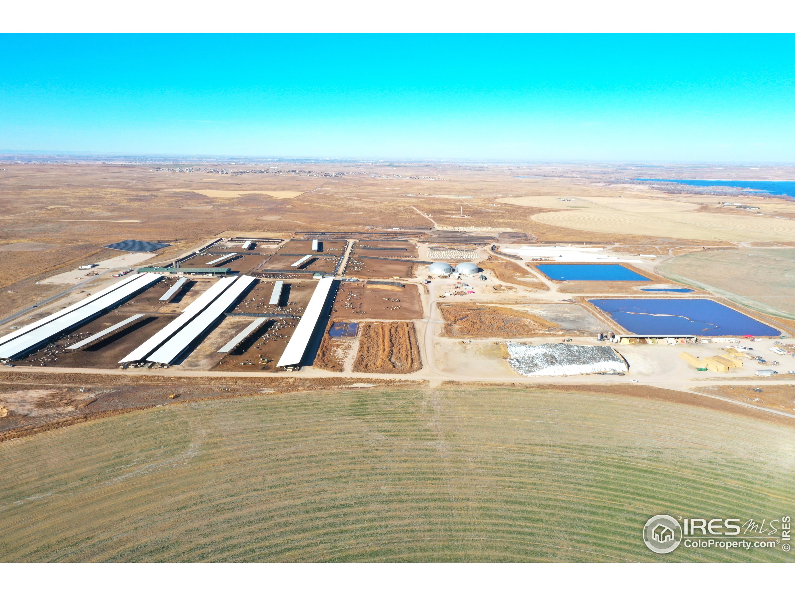
M 727 249 L 687 253 L 659 273 L 758 312 L 795 319 L 795 250 Z

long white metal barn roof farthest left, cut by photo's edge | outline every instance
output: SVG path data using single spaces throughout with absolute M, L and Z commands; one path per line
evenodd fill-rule
M 123 285 L 114 292 L 107 293 L 99 298 L 99 300 L 94 300 L 86 304 L 83 308 L 78 308 L 67 315 L 54 319 L 41 327 L 37 327 L 37 329 L 25 335 L 21 335 L 16 339 L 12 339 L 10 342 L 2 344 L 2 346 L 0 346 L 0 358 L 15 358 L 33 350 L 41 345 L 41 343 L 45 343 L 53 335 L 68 331 L 72 327 L 76 327 L 80 323 L 83 323 L 83 321 L 94 318 L 107 308 L 112 308 L 117 304 L 126 302 L 130 299 L 130 296 L 149 287 L 149 285 L 153 284 L 161 277 L 161 275 L 153 273 L 147 273 L 141 277 L 137 277 L 129 284 Z

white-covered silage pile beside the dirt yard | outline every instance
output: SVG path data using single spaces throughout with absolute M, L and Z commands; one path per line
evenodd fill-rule
M 629 366 L 610 346 L 578 346 L 573 343 L 506 342 L 508 364 L 526 377 L 560 377 L 572 374 L 626 373 Z

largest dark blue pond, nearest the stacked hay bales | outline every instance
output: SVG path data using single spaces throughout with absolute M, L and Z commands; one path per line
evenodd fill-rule
M 714 300 L 588 300 L 638 335 L 774 335 L 781 333 Z

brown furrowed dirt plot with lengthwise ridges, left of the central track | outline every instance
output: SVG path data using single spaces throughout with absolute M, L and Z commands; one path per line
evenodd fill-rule
M 414 323 L 362 323 L 357 373 L 413 373 L 421 369 Z

